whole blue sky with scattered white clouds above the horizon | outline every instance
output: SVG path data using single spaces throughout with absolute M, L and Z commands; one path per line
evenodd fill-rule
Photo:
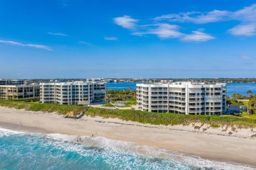
M 256 77 L 256 1 L 0 0 L 0 78 Z

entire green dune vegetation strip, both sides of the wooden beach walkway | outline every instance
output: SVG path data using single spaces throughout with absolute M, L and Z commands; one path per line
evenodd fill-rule
M 66 114 L 70 111 L 76 111 L 83 106 L 62 105 L 62 104 L 43 104 L 35 99 L 23 100 L 0 100 L 0 106 L 16 109 L 25 109 L 32 111 L 55 112 L 57 114 Z M 131 120 L 133 122 L 148 123 L 154 125 L 189 125 L 195 123 L 209 124 L 212 127 L 236 126 L 243 128 L 256 127 L 256 119 L 250 117 L 237 116 L 199 116 L 199 115 L 180 115 L 172 113 L 155 113 L 140 110 L 119 110 L 90 108 L 85 112 L 88 116 L 101 116 L 103 118 L 118 118 L 122 120 Z

